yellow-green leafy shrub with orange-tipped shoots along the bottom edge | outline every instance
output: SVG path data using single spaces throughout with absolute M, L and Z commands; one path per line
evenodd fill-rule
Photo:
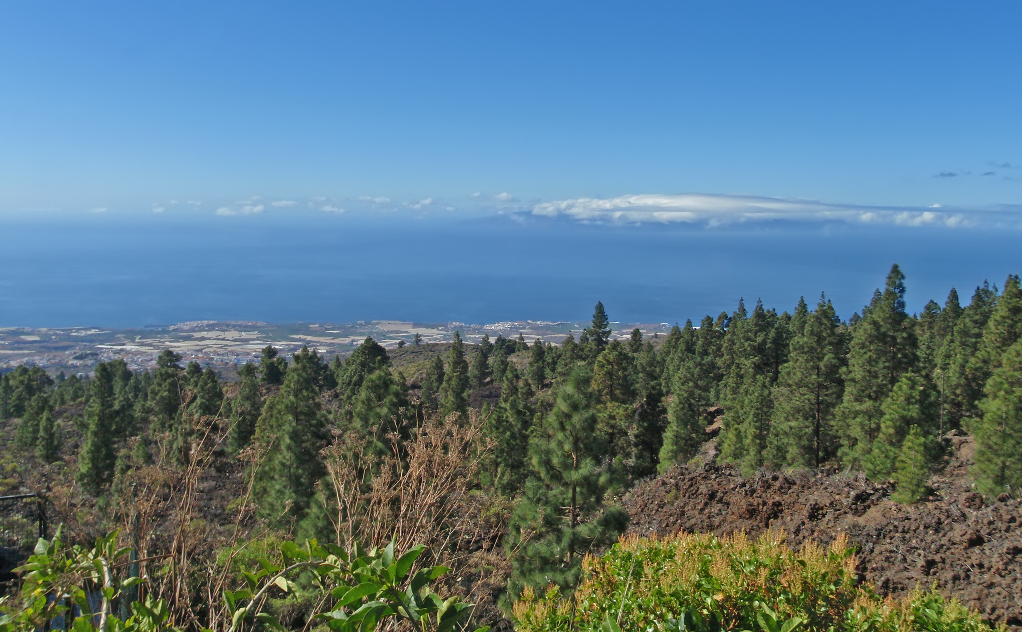
M 829 547 L 793 551 L 783 533 L 622 538 L 589 556 L 572 600 L 556 587 L 526 589 L 514 606 L 519 632 L 553 630 L 755 632 L 980 632 L 978 615 L 957 601 L 916 591 L 881 599 L 855 585 L 844 536 Z

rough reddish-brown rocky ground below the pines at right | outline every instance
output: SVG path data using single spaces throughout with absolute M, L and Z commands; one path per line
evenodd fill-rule
M 858 548 L 861 579 L 879 593 L 935 587 L 1022 630 L 1022 502 L 1002 495 L 984 503 L 968 472 L 972 439 L 948 440 L 953 457 L 931 478 L 930 498 L 914 505 L 890 500 L 892 483 L 834 469 L 742 477 L 730 466 L 679 466 L 624 497 L 630 532 L 756 535 L 773 528 L 795 547 L 843 532 Z

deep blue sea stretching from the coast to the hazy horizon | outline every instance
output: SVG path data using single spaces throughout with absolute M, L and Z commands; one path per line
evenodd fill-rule
M 1022 272 L 1018 231 L 844 224 L 600 226 L 529 216 L 0 218 L 0 327 L 197 320 L 682 323 L 821 292 L 861 310 L 890 265 L 908 303 Z

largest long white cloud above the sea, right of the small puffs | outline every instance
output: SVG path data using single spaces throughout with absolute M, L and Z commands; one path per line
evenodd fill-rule
M 940 208 L 941 210 L 934 210 Z M 532 214 L 567 216 L 579 222 L 617 224 L 705 224 L 721 226 L 744 222 L 846 222 L 898 226 L 962 227 L 969 223 L 961 212 L 943 207 L 873 206 L 838 204 L 819 200 L 753 195 L 705 193 L 641 194 L 612 198 L 574 198 L 543 202 Z

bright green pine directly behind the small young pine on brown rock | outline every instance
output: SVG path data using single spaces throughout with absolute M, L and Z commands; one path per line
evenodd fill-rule
M 881 480 L 893 474 L 898 452 L 913 428 L 919 428 L 926 442 L 927 463 L 936 460 L 937 401 L 936 389 L 928 379 L 915 373 L 901 376 L 883 402 L 877 438 L 863 461 L 869 478 Z

